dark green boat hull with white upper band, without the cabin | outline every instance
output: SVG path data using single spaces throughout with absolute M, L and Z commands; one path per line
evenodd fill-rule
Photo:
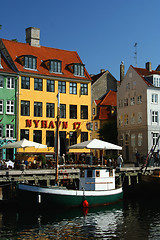
M 18 202 L 23 206 L 80 207 L 84 200 L 88 206 L 109 205 L 123 198 L 122 188 L 107 191 L 81 191 L 58 188 L 43 188 L 19 184 Z

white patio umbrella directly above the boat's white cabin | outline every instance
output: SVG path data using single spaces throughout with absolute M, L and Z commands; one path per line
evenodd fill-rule
M 99 139 L 92 139 L 89 141 L 74 144 L 69 147 L 69 149 L 100 149 L 100 150 L 122 150 L 122 147 L 115 145 L 113 143 L 105 142 Z

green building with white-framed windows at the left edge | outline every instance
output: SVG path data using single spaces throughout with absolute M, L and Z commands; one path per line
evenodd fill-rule
M 17 74 L 0 52 L 0 146 L 16 140 Z M 15 149 L 0 149 L 0 160 L 13 160 Z

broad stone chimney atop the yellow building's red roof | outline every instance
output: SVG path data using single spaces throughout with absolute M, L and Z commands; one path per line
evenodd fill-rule
M 40 28 L 26 28 L 26 43 L 33 47 L 40 47 Z

